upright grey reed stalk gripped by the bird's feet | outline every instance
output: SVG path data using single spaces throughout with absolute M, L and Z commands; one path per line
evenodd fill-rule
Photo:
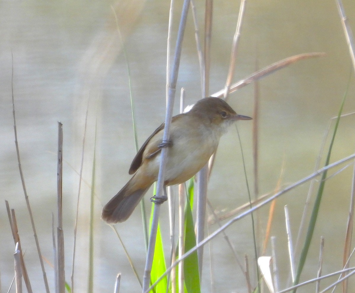
M 182 40 L 184 38 L 185 25 L 186 25 L 187 12 L 189 10 L 189 5 L 190 5 L 190 0 L 185 0 L 183 7 L 182 7 L 182 12 L 181 12 L 181 19 L 180 19 L 179 30 L 178 30 L 178 38 L 176 40 L 176 47 L 175 47 L 173 70 L 172 70 L 172 73 L 171 73 L 171 76 L 169 79 L 169 91 L 168 91 L 169 98 L 168 98 L 168 102 L 166 105 L 163 142 L 169 141 L 169 128 L 170 128 L 170 123 L 171 123 L 171 117 L 173 116 L 173 105 L 174 105 L 174 98 L 175 98 L 175 91 L 176 91 L 176 82 L 178 80 Z M 163 195 L 166 155 L 167 155 L 166 148 L 163 148 L 162 152 L 160 154 L 159 175 L 158 175 L 158 182 L 157 182 L 157 196 Z M 150 276 L 151 276 L 151 270 L 152 270 L 155 241 L 156 241 L 156 237 L 157 237 L 159 213 L 160 213 L 160 205 L 155 204 L 154 212 L 153 212 L 153 219 L 152 219 L 152 224 L 151 224 L 151 233 L 149 235 L 146 266 L 144 268 L 144 275 L 143 275 L 143 292 L 147 291 L 147 288 L 149 287 L 149 283 L 150 283 L 150 279 L 151 279 Z

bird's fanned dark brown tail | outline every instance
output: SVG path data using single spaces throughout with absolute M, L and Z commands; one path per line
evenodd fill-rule
M 146 194 L 151 184 L 147 187 L 133 190 L 133 176 L 129 182 L 116 194 L 102 209 L 101 218 L 107 223 L 118 223 L 127 220 L 133 213 L 144 194 Z

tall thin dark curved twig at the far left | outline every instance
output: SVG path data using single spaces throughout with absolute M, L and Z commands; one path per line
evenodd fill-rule
M 26 205 L 27 205 L 27 210 L 29 213 L 29 219 L 31 221 L 31 225 L 32 225 L 32 230 L 33 230 L 33 236 L 34 236 L 34 241 L 36 242 L 36 247 L 37 247 L 37 252 L 38 252 L 38 258 L 39 258 L 39 262 L 42 268 L 42 273 L 43 273 L 43 281 L 44 281 L 44 286 L 45 286 L 45 290 L 47 293 L 49 293 L 49 286 L 48 286 L 48 281 L 47 281 L 47 275 L 45 273 L 44 270 L 44 264 L 43 264 L 43 259 L 42 259 L 42 253 L 39 247 L 39 241 L 38 241 L 38 237 L 37 237 L 37 232 L 36 232 L 36 228 L 34 225 L 34 220 L 33 220 L 33 216 L 32 216 L 32 210 L 31 210 L 31 206 L 29 204 L 29 199 L 28 199 L 28 195 L 27 195 L 27 190 L 26 190 L 26 185 L 24 183 L 24 177 L 23 177 L 23 173 L 22 173 L 22 167 L 21 167 L 21 160 L 20 160 L 20 150 L 18 148 L 18 140 L 17 140 L 17 130 L 16 130 L 16 118 L 15 118 L 15 99 L 13 98 L 13 56 L 12 56 L 12 52 L 11 52 L 11 58 L 12 58 L 12 75 L 11 75 L 11 93 L 12 93 L 12 115 L 13 115 L 13 131 L 15 133 L 15 146 L 16 146 L 16 153 L 17 153 L 17 161 L 18 161 L 18 170 L 20 171 L 20 177 L 21 177 L 21 182 L 22 182 L 22 188 L 23 188 L 23 193 L 24 193 L 24 198 L 26 200 Z M 28 288 L 27 288 L 28 289 Z

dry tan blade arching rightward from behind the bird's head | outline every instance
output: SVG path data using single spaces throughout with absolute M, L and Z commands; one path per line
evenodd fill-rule
M 283 60 L 280 60 L 278 62 L 275 62 L 267 67 L 264 67 L 263 69 L 253 73 L 252 75 L 246 77 L 245 79 L 242 79 L 235 84 L 230 86 L 229 93 L 233 93 L 236 90 L 239 90 L 242 87 L 245 87 L 246 85 L 249 85 L 251 82 L 256 81 L 261 79 L 262 77 L 265 77 L 277 70 L 280 70 L 292 63 L 295 63 L 297 61 L 303 60 L 303 59 L 308 59 L 308 58 L 315 58 L 315 57 L 322 57 L 326 56 L 325 53 L 304 53 L 304 54 L 299 54 L 299 55 L 294 55 L 288 58 L 285 58 Z M 215 92 L 214 94 L 211 94 L 212 97 L 217 97 L 217 98 L 222 98 L 224 96 L 225 88 L 223 90 L 220 90 L 218 92 Z

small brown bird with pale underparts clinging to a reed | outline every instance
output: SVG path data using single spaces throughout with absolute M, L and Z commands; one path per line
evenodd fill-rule
M 227 127 L 237 120 L 251 120 L 238 115 L 220 98 L 204 98 L 184 114 L 171 120 L 170 141 L 162 144 L 164 123 L 160 125 L 136 154 L 127 184 L 103 208 L 102 219 L 108 223 L 124 222 L 157 180 L 162 147 L 168 147 L 164 185 L 189 180 L 217 150 Z

